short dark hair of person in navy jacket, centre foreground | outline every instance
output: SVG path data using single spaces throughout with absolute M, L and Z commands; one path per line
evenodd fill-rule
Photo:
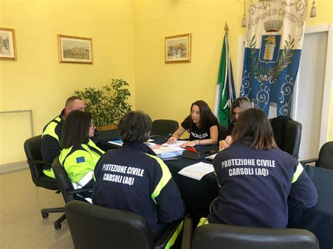
M 118 123 L 123 142 L 146 142 L 152 130 L 152 119 L 144 112 L 126 112 Z

